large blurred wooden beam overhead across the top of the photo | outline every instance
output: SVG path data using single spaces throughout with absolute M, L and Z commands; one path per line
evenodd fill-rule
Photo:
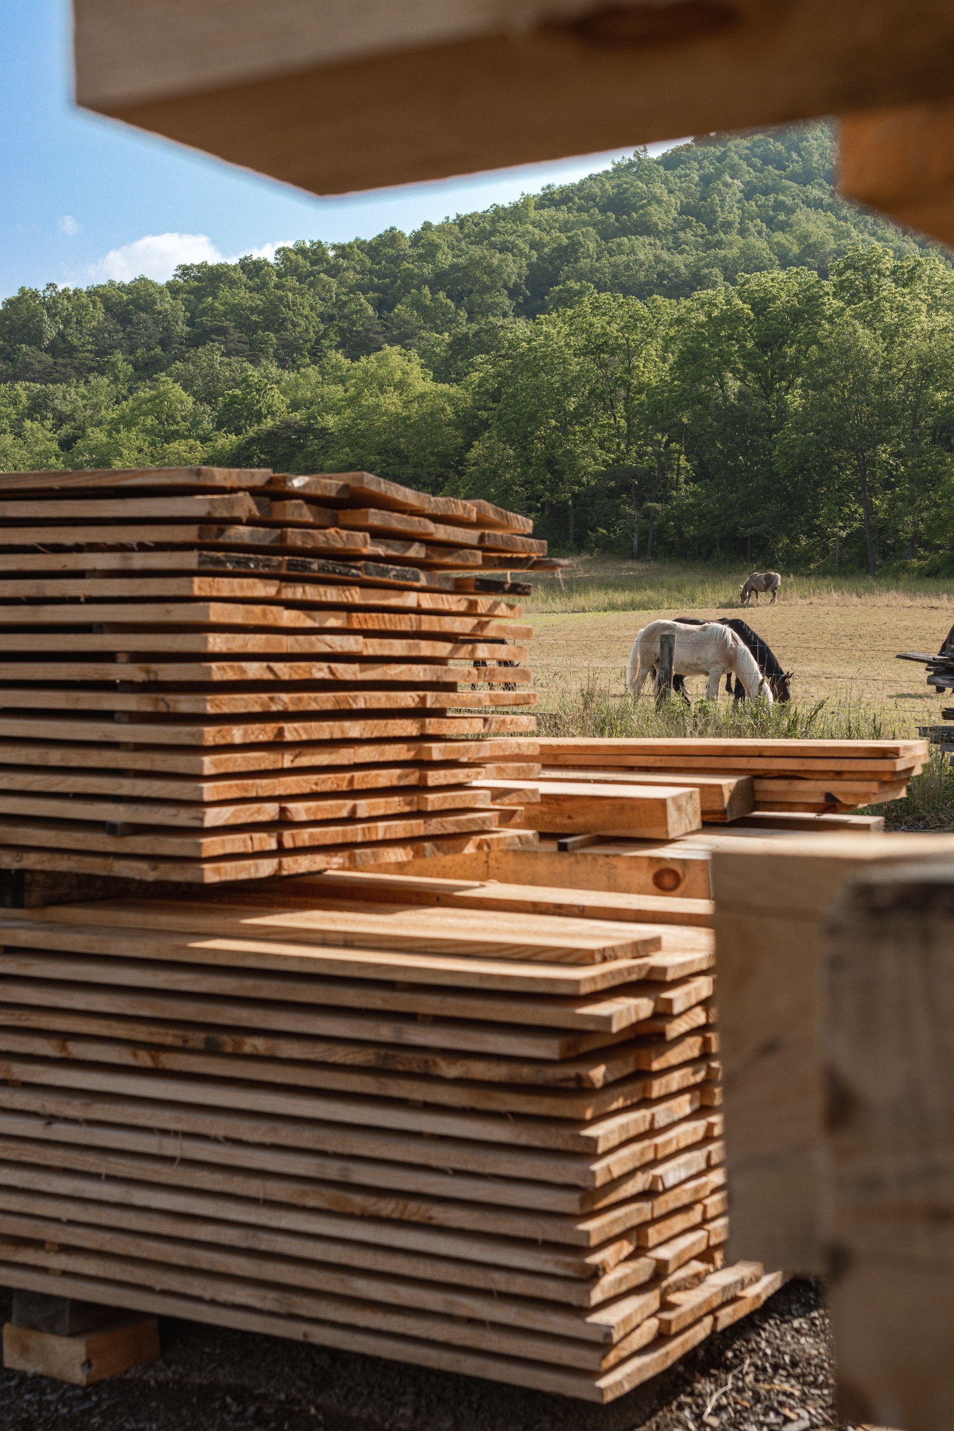
M 313 193 L 954 92 L 947 0 L 74 0 L 84 109 Z

